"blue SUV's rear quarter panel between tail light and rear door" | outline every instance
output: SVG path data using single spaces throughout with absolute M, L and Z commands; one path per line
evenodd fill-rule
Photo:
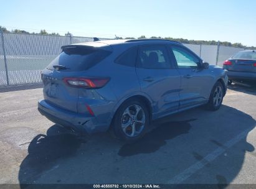
M 107 85 L 101 89 L 95 90 L 95 94 L 93 94 L 98 96 L 97 99 L 101 101 L 100 103 L 102 103 L 104 99 L 105 104 L 97 104 L 95 100 L 90 98 L 90 100 L 93 101 L 91 103 L 95 103 L 95 105 L 92 105 L 92 109 L 99 113 L 97 119 L 99 119 L 100 122 L 104 121 L 110 124 L 120 104 L 123 103 L 125 99 L 141 93 L 135 67 L 119 65 L 114 62 L 116 57 L 133 46 L 133 44 L 113 45 L 111 55 L 88 71 L 88 76 L 110 77 L 110 81 L 108 81 Z M 82 93 L 80 94 L 83 96 Z

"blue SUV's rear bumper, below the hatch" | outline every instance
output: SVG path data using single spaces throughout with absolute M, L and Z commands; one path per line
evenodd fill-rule
M 94 132 L 107 131 L 108 125 L 100 124 L 94 116 L 77 114 L 65 109 L 61 109 L 44 99 L 38 101 L 38 111 L 48 118 L 50 121 L 60 124 L 65 127 L 71 127 L 77 132 L 87 132 L 92 134 Z

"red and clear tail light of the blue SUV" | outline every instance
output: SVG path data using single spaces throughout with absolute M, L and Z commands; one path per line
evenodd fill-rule
M 69 86 L 95 89 L 105 86 L 110 78 L 64 78 L 63 80 Z

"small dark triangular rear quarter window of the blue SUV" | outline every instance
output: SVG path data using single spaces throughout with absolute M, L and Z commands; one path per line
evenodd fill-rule
M 131 47 L 116 58 L 115 63 L 128 67 L 135 67 L 137 47 Z

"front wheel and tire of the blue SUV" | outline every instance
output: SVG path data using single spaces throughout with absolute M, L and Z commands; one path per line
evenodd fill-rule
M 212 88 L 211 96 L 207 103 L 207 109 L 211 111 L 216 111 L 220 108 L 224 97 L 224 89 L 222 84 L 217 81 L 217 83 Z

